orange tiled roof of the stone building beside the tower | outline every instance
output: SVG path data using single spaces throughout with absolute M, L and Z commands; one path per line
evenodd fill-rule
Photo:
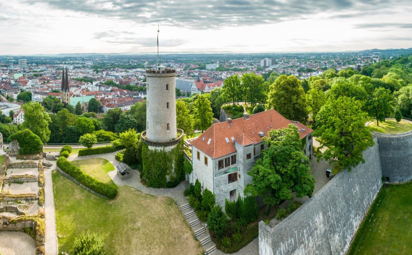
M 306 137 L 313 130 L 306 125 L 289 120 L 282 116 L 274 109 L 259 112 L 249 116 L 233 119 L 232 123 L 228 121 L 215 123 L 209 127 L 202 135 L 194 139 L 191 144 L 199 148 L 212 158 L 218 158 L 233 152 L 236 152 L 235 145 L 232 142 L 232 137 L 235 142 L 244 146 L 257 144 L 262 142 L 262 137 L 259 132 L 267 135 L 271 129 L 280 129 L 294 123 L 300 129 L 300 138 Z M 226 141 L 228 138 L 229 141 Z M 208 144 L 208 141 L 210 142 Z

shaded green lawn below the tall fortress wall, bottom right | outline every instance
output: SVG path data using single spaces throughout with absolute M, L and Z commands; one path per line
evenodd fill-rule
M 411 254 L 412 182 L 383 186 L 348 254 Z

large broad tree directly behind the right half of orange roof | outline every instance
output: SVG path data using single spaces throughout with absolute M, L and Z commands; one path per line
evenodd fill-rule
M 282 74 L 270 85 L 266 109 L 272 108 L 287 119 L 306 122 L 308 106 L 299 79 Z

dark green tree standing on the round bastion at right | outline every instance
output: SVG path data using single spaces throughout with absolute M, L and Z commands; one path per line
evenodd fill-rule
M 375 89 L 372 99 L 368 102 L 368 106 L 369 114 L 376 119 L 378 126 L 379 120 L 385 121 L 385 117 L 393 112 L 394 101 L 395 98 L 391 90 L 383 87 Z

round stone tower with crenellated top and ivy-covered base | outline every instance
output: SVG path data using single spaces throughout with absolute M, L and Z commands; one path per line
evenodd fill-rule
M 143 179 L 152 187 L 184 179 L 183 130 L 176 128 L 176 70 L 146 70 L 146 131 L 142 132 Z

